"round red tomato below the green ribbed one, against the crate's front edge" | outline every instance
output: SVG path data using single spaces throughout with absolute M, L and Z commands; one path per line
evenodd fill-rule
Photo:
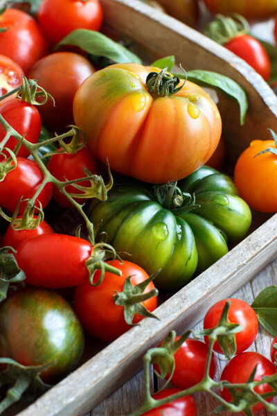
M 136 285 L 149 277 L 141 267 L 129 261 L 120 263 L 115 260 L 111 265 L 122 271 L 121 277 L 105 272 L 104 280 L 99 286 L 91 286 L 89 281 L 85 281 L 75 289 L 74 295 L 74 309 L 82 326 L 102 340 L 114 340 L 129 329 L 124 319 L 123 306 L 116 305 L 113 299 L 116 292 L 123 291 L 125 279 L 132 276 L 131 283 Z M 99 273 L 96 272 L 96 281 L 98 276 Z M 145 292 L 150 292 L 153 288 L 154 284 L 150 282 Z M 157 307 L 157 297 L 151 297 L 142 303 L 149 311 L 153 311 Z M 133 323 L 136 324 L 142 318 L 135 314 Z

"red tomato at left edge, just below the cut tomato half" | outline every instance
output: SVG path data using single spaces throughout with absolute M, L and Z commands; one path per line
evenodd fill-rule
M 12 98 L 0 106 L 0 114 L 14 128 L 19 135 L 24 136 L 30 143 L 37 143 L 39 140 L 42 120 L 34 105 L 22 101 L 20 98 Z M 6 130 L 0 125 L 0 141 L 6 136 Z M 14 137 L 8 139 L 5 147 L 14 150 L 18 141 Z M 6 157 L 10 154 L 4 150 Z M 29 151 L 23 145 L 20 146 L 17 156 L 28 157 Z M 3 159 L 3 157 L 2 157 Z

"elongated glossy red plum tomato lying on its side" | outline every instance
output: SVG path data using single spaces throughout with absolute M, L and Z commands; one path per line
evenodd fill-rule
M 91 255 L 89 241 L 66 234 L 43 234 L 22 241 L 15 258 L 26 283 L 42 288 L 66 288 L 89 277 L 84 262 Z

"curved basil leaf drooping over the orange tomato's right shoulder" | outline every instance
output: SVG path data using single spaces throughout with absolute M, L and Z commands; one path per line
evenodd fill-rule
M 186 78 L 183 74 L 177 73 L 177 75 L 179 78 Z M 228 76 L 221 75 L 217 72 L 202 71 L 202 69 L 188 71 L 187 76 L 190 81 L 200 85 L 215 87 L 216 89 L 220 89 L 220 92 L 224 92 L 224 94 L 234 98 L 240 107 L 240 125 L 244 124 L 245 115 L 248 109 L 248 101 L 244 89 L 242 89 L 238 83 Z

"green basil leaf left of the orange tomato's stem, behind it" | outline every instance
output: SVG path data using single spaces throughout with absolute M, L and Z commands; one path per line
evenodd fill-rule
M 79 46 L 83 51 L 87 51 L 92 55 L 104 56 L 122 64 L 125 62 L 136 62 L 141 64 L 141 59 L 134 53 L 130 52 L 125 46 L 114 42 L 109 37 L 97 31 L 89 31 L 89 29 L 76 29 L 64 37 L 54 48 L 57 50 L 62 45 Z

